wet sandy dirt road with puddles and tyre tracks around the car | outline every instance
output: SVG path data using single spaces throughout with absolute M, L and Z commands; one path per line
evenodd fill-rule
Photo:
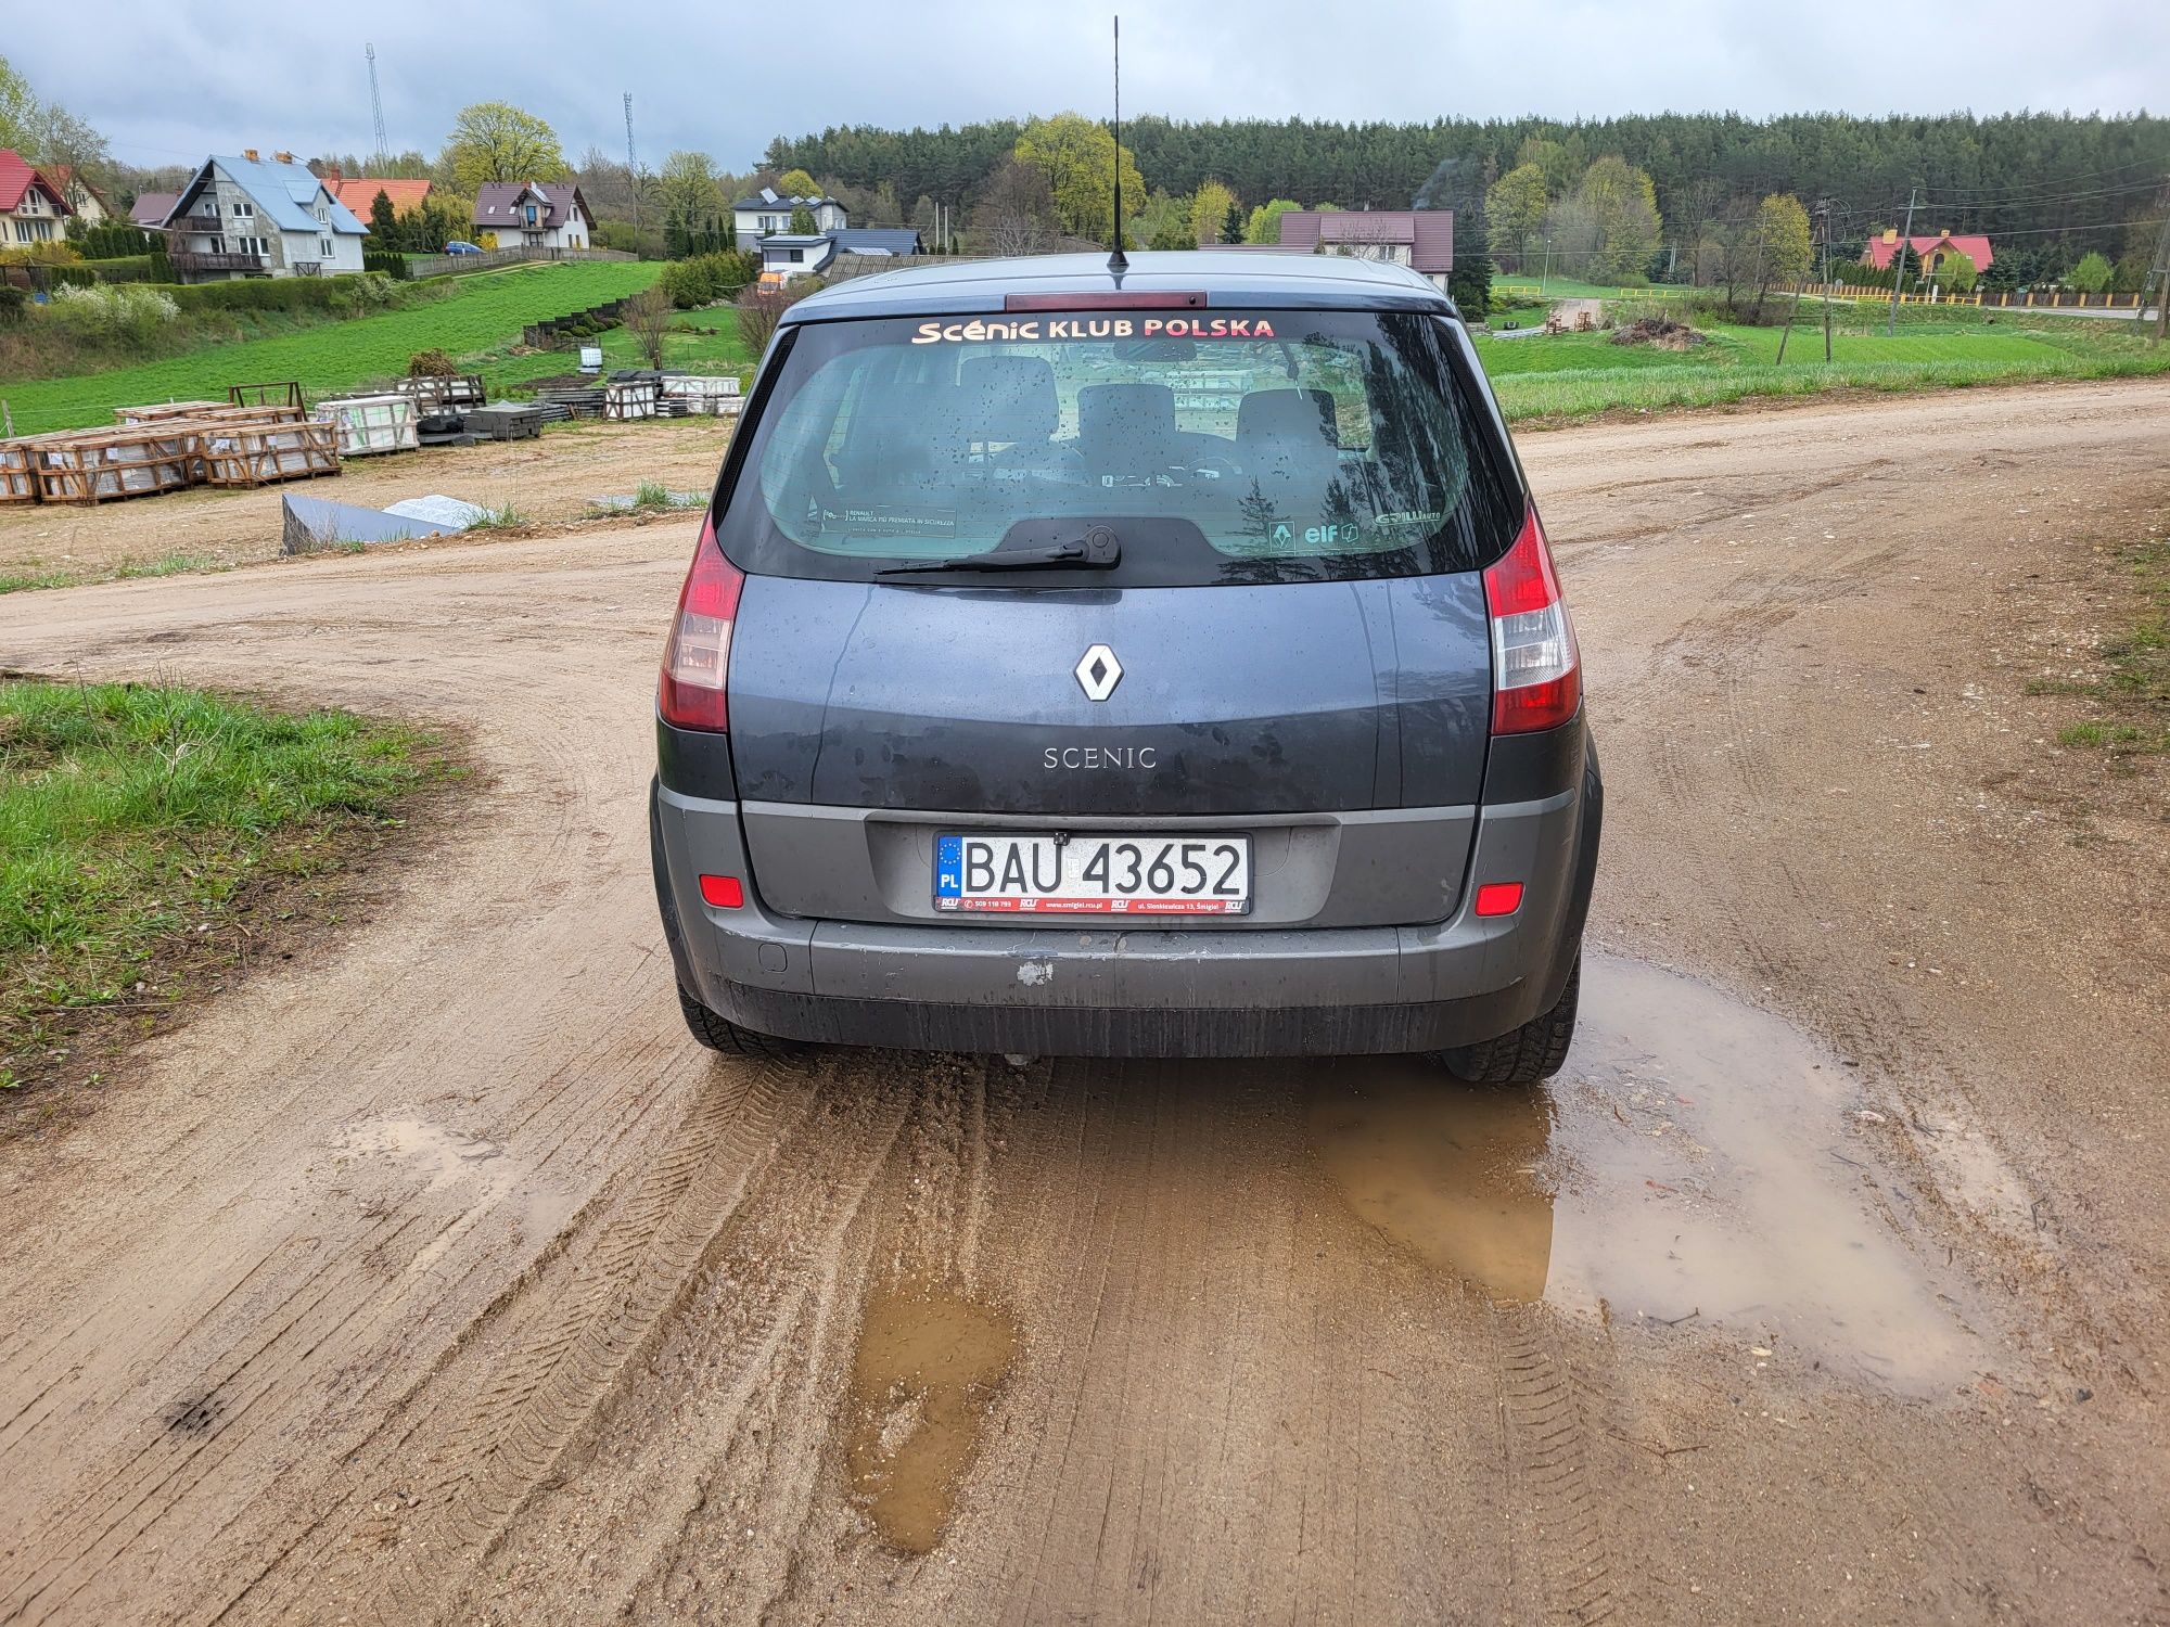
M 2170 1620 L 2163 790 L 2025 692 L 2170 390 L 1523 451 L 1610 790 L 1539 1098 L 697 1052 L 673 527 L 0 599 L 490 768 L 0 1148 L 0 1620 Z

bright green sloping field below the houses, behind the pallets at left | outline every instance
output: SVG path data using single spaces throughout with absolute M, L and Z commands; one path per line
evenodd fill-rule
M 508 267 L 462 278 L 441 299 L 378 317 L 356 317 L 239 345 L 213 345 L 163 362 L 82 377 L 0 384 L 0 399 L 7 399 L 15 417 L 17 434 L 106 425 L 113 423 L 117 406 L 224 401 L 228 384 L 299 380 L 315 399 L 397 377 L 419 349 L 443 349 L 462 362 L 501 354 L 506 345 L 519 341 L 525 323 L 621 299 L 649 286 L 660 271 L 660 265 L 627 260 Z M 562 354 L 534 360 L 542 367 L 527 377 L 573 369 L 573 358 Z

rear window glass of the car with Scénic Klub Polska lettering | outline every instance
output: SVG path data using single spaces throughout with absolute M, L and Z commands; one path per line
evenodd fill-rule
M 757 403 L 718 536 L 746 571 L 846 581 L 1094 527 L 1120 540 L 1113 571 L 1020 581 L 1473 571 L 1521 523 L 1493 436 L 1424 315 L 807 323 Z

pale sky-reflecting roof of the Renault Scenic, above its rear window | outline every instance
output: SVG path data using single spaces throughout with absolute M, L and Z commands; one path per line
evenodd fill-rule
M 1209 306 L 1278 306 L 1287 310 L 1439 310 L 1454 302 L 1406 265 L 1339 254 L 1243 254 L 1167 249 L 1133 254 L 1131 269 L 1107 269 L 1105 254 L 1042 254 L 1020 260 L 953 260 L 879 271 L 809 293 L 781 321 L 851 321 L 855 317 L 944 317 L 998 312 L 1013 293 L 1189 293 Z

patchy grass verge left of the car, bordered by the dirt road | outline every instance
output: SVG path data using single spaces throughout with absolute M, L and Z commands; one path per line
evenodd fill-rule
M 98 1085 L 295 928 L 336 924 L 332 881 L 460 772 L 436 738 L 345 712 L 0 679 L 0 1091 Z

